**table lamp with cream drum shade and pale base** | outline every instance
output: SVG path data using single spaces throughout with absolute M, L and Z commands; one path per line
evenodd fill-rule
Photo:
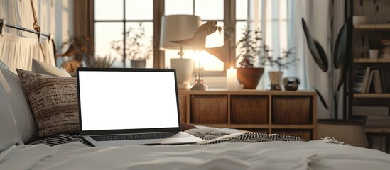
M 183 58 L 185 50 L 193 50 L 193 47 L 181 45 L 171 41 L 191 38 L 197 28 L 202 24 L 199 16 L 170 15 L 163 16 L 161 20 L 160 50 L 180 50 L 180 58 L 170 59 L 170 67 L 176 69 L 178 89 L 189 89 L 193 76 L 193 59 Z

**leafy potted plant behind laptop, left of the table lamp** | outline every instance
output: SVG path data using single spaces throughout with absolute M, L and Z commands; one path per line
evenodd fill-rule
M 126 48 L 124 50 L 124 40 L 115 40 L 112 42 L 112 49 L 117 51 L 119 55 L 129 57 L 132 68 L 146 67 L 146 60 L 153 56 L 153 38 L 149 38 L 146 42 L 145 27 L 142 22 L 137 28 L 129 28 L 124 33 Z

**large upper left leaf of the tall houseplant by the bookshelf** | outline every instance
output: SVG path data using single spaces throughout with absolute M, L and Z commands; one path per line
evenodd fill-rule
M 308 29 L 308 26 L 305 22 L 305 19 L 302 18 L 302 26 L 303 31 L 306 35 L 306 41 L 308 42 L 308 47 L 311 55 L 313 56 L 313 59 L 315 63 L 317 63 L 318 67 L 320 67 L 323 72 L 327 72 L 328 69 L 328 62 L 327 62 L 327 56 L 325 51 L 323 50 L 323 47 L 318 43 L 317 40 L 315 40 L 311 35 L 310 31 Z

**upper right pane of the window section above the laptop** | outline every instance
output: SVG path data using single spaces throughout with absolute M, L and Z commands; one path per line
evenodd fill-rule
M 126 20 L 153 20 L 153 0 L 126 0 L 125 3 Z

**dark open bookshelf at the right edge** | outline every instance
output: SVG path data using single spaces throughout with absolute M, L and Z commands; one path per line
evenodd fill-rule
M 364 11 L 367 18 L 366 24 L 353 25 L 349 23 L 347 52 L 352 60 L 349 61 L 349 72 L 347 76 L 347 86 L 345 86 L 345 104 L 347 105 L 348 118 L 355 114 L 364 113 L 367 115 L 365 132 L 372 149 L 390 151 L 390 23 L 388 17 L 389 1 L 369 1 L 350 0 L 348 2 L 347 16 L 359 16 Z M 379 8 L 377 8 L 377 6 Z M 385 40 L 385 41 L 384 41 Z M 377 58 L 369 57 L 369 50 L 379 50 Z M 374 89 L 369 89 L 364 93 L 354 93 L 354 82 L 356 80 L 357 68 L 377 67 L 379 68 L 384 86 L 382 93 L 375 93 Z M 378 80 L 378 79 L 376 79 Z M 378 81 L 377 81 L 378 82 Z M 378 83 L 376 83 L 378 84 Z M 378 87 L 378 86 L 377 86 Z M 357 106 L 369 108 L 367 111 L 357 111 Z M 353 109 L 355 108 L 355 109 Z M 382 108 L 383 111 L 373 111 L 373 108 Z M 386 110 L 387 109 L 387 110 Z M 381 113 L 379 121 L 373 115 Z M 371 117 L 371 118 L 370 118 Z M 386 148 L 386 149 L 383 149 Z

